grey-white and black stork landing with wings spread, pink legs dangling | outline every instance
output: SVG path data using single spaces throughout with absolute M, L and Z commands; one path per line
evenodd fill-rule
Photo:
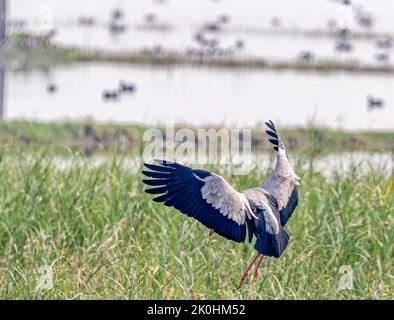
M 284 227 L 298 204 L 299 178 L 294 173 L 286 149 L 274 123 L 265 122 L 266 133 L 276 151 L 276 166 L 271 176 L 259 186 L 236 191 L 223 177 L 205 170 L 194 170 L 178 163 L 156 160 L 145 163 L 152 187 L 145 191 L 156 195 L 155 202 L 174 207 L 207 228 L 229 240 L 251 242 L 255 236 L 257 251 L 245 269 L 239 287 L 257 262 L 253 282 L 260 273 L 265 256 L 279 258 L 287 247 L 289 236 Z

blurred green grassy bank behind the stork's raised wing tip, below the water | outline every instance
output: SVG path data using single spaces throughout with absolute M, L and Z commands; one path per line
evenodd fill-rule
M 110 152 L 114 147 L 121 145 L 125 152 L 138 152 L 141 149 L 143 133 L 147 129 L 148 127 L 135 124 L 98 124 L 90 121 L 59 123 L 0 121 L 0 143 L 23 148 L 45 146 L 54 151 L 66 147 L 88 154 Z M 191 127 L 191 129 L 197 136 L 197 128 Z M 162 130 L 164 132 L 164 129 Z M 311 126 L 283 128 L 281 134 L 288 150 L 308 152 L 312 155 L 340 151 L 394 151 L 393 131 L 346 132 Z M 263 126 L 257 126 L 252 130 L 252 147 L 254 150 L 271 150 Z

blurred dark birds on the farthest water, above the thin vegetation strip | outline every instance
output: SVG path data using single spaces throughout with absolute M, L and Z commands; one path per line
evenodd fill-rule
M 215 1 L 215 0 L 211 0 Z M 375 23 L 374 16 L 364 7 L 356 5 L 351 0 L 327 0 L 336 2 L 339 5 L 348 7 L 353 15 L 354 21 L 363 29 L 370 30 Z M 153 0 L 157 5 L 166 5 L 168 0 Z M 220 1 L 215 1 L 220 2 Z M 231 24 L 232 17 L 229 14 L 220 14 L 211 21 L 206 21 L 199 26 L 199 29 L 191 35 L 193 41 L 192 45 L 185 48 L 184 54 L 188 58 L 214 58 L 214 57 L 234 57 L 241 53 L 246 47 L 246 40 L 243 38 L 234 39 L 230 45 L 223 45 L 220 39 L 220 33 Z M 100 22 L 95 16 L 80 15 L 76 19 L 77 25 L 80 27 L 94 27 Z M 13 22 L 14 26 L 22 28 L 26 26 L 26 21 L 18 20 Z M 126 33 L 129 30 L 129 25 L 125 16 L 125 11 L 121 7 L 115 7 L 109 13 L 109 19 L 105 23 L 108 31 L 113 36 Z M 270 25 L 273 30 L 280 31 L 282 20 L 279 17 L 272 17 Z M 147 12 L 142 16 L 137 28 L 142 30 L 170 30 L 172 26 L 160 20 L 157 14 Z M 347 26 L 341 26 L 336 19 L 327 21 L 327 29 L 330 33 L 335 35 L 333 49 L 341 55 L 349 54 L 355 50 L 355 45 L 351 40 L 351 30 Z M 56 30 L 50 32 L 51 36 L 56 34 Z M 375 53 L 373 59 L 378 63 L 388 63 L 390 61 L 391 49 L 394 48 L 394 39 L 390 35 L 381 35 L 375 41 Z M 165 52 L 160 44 L 152 44 L 150 47 L 142 47 L 141 53 L 160 55 Z M 301 62 L 313 62 L 316 59 L 316 54 L 313 50 L 301 51 L 296 57 Z

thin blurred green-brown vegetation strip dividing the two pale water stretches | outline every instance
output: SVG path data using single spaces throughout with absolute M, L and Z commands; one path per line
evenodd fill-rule
M 314 60 L 304 62 L 272 62 L 258 57 L 190 57 L 182 52 L 164 51 L 159 54 L 149 52 L 116 53 L 103 50 L 82 50 L 52 44 L 49 37 L 34 37 L 28 34 L 13 34 L 9 37 L 9 48 L 0 51 L 0 59 L 13 65 L 26 65 L 36 68 L 48 68 L 54 64 L 77 62 L 111 62 L 137 65 L 158 66 L 206 66 L 217 68 L 245 68 L 296 70 L 316 72 L 357 72 L 393 74 L 392 64 L 360 64 L 357 61 Z M 32 46 L 32 43 L 34 45 Z

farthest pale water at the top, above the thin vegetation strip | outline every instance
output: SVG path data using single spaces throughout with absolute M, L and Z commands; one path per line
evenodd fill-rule
M 352 30 L 380 33 L 394 33 L 394 3 L 391 0 L 353 1 L 364 6 L 375 18 L 371 29 L 363 30 L 350 21 Z M 226 14 L 230 21 L 223 33 L 213 34 L 221 46 L 232 46 L 237 39 L 245 41 L 243 56 L 259 56 L 271 59 L 292 60 L 303 50 L 312 51 L 316 58 L 357 60 L 377 63 L 373 40 L 354 40 L 354 51 L 347 54 L 335 52 L 335 39 L 310 38 L 247 32 L 248 30 L 272 30 L 271 19 L 277 17 L 281 25 L 277 30 L 327 30 L 329 20 L 339 21 L 343 6 L 329 0 L 168 0 L 158 5 L 153 0 L 14 0 L 10 2 L 12 19 L 27 21 L 28 30 L 40 28 L 38 23 L 42 8 L 49 8 L 53 15 L 57 34 L 54 40 L 82 48 L 100 48 L 111 51 L 140 50 L 143 47 L 160 45 L 168 50 L 186 50 L 193 46 L 193 35 L 207 21 L 214 21 L 218 15 Z M 108 31 L 110 12 L 114 8 L 124 11 L 127 32 L 116 36 Z M 136 28 L 144 22 L 144 15 L 154 14 L 157 23 L 171 26 L 170 31 L 141 31 Z M 76 24 L 78 17 L 92 16 L 97 20 L 93 27 Z

